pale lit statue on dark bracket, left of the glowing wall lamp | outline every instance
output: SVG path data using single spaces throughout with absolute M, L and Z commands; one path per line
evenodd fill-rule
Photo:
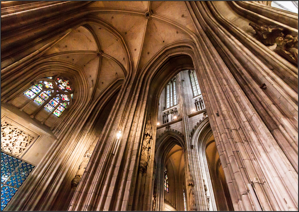
M 83 161 L 81 162 L 79 169 L 75 175 L 75 177 L 72 179 L 71 181 L 71 186 L 72 187 L 77 187 L 80 179 L 87 167 L 87 164 L 89 162 L 89 159 L 91 158 L 91 154 L 95 148 L 95 145 L 97 143 L 97 139 L 94 139 L 94 141 L 92 142 L 92 144 L 89 146 L 88 150 L 85 152 L 84 157 L 83 157 Z

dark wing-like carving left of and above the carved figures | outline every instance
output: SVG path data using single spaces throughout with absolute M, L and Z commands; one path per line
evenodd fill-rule
M 286 28 L 276 26 L 258 25 L 250 22 L 249 25 L 255 30 L 260 42 L 264 45 L 274 45 L 275 39 L 279 36 L 284 36 L 289 33 Z

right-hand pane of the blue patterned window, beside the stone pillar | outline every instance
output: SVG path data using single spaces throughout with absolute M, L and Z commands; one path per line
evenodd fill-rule
M 19 188 L 30 172 L 33 170 L 34 166 L 23 161 L 19 168 L 13 173 L 10 179 L 7 181 L 7 185 Z

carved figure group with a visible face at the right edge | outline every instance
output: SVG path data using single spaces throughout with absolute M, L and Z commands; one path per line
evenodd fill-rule
M 276 38 L 276 51 L 289 62 L 298 64 L 298 37 L 286 35 Z

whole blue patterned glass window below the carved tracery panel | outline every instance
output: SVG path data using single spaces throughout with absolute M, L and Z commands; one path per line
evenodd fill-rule
M 34 166 L 1 151 L 1 211 L 23 184 Z

